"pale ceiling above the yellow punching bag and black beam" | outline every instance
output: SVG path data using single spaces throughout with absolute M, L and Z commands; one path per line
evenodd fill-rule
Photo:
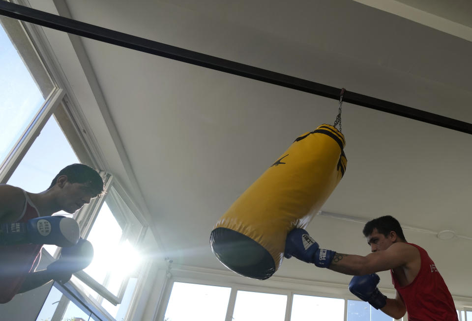
M 427 11 L 427 1 L 401 2 Z M 442 10 L 440 2 L 430 7 Z M 467 1 L 455 3 L 470 10 Z M 398 12 L 352 0 L 66 4 L 76 20 L 472 123 L 472 42 Z M 443 18 L 471 26 L 453 10 Z M 167 254 L 177 264 L 224 268 L 209 248 L 213 224 L 296 136 L 332 124 L 337 102 L 82 41 L 117 128 L 115 139 Z M 62 68 L 79 86 L 80 75 Z M 79 101 L 82 94 L 75 92 Z M 323 211 L 365 219 L 391 214 L 404 225 L 472 237 L 471 135 L 346 103 L 342 119 L 348 168 Z M 106 128 L 89 122 L 100 142 Z M 110 170 L 128 184 L 114 156 L 108 156 Z M 319 215 L 308 230 L 323 247 L 365 255 L 362 226 Z M 453 294 L 472 297 L 472 241 L 441 241 L 411 230 L 406 237 L 428 250 Z M 295 260 L 276 275 L 350 279 Z M 381 277 L 391 287 L 388 272 Z

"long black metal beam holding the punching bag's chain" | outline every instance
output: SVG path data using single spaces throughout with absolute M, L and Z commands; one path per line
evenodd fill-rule
M 327 98 L 336 100 L 339 100 L 340 98 L 341 88 L 331 87 L 321 83 L 279 74 L 235 61 L 166 45 L 157 41 L 152 41 L 115 30 L 86 24 L 80 21 L 53 15 L 3 0 L 0 0 L 0 15 L 26 21 L 39 26 L 76 34 L 120 47 L 183 61 L 193 65 L 198 65 L 254 80 L 260 80 Z M 412 107 L 357 94 L 355 92 L 346 90 L 343 96 L 343 101 L 354 105 L 368 107 L 419 120 L 455 131 L 472 134 L 472 124 Z

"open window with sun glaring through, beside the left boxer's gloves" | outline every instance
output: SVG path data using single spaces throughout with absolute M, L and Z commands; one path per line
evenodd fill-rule
M 147 232 L 130 209 L 124 190 L 111 178 L 100 208 L 81 213 L 83 237 L 93 244 L 94 257 L 89 267 L 71 279 L 71 283 L 89 299 L 102 306 L 114 318 L 133 293 L 143 260 L 138 248 Z

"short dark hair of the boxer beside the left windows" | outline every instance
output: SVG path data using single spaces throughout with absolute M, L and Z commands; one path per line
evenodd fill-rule
M 85 184 L 87 187 L 89 187 L 90 192 L 96 194 L 97 196 L 103 192 L 102 178 L 96 170 L 85 164 L 72 164 L 65 166 L 53 179 L 49 188 L 56 185 L 59 176 L 62 175 L 67 176 L 67 181 L 69 183 Z

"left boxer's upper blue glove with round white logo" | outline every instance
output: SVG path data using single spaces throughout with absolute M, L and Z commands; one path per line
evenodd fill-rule
M 32 218 L 26 223 L 0 225 L 0 245 L 54 244 L 72 246 L 80 237 L 79 224 L 62 215 Z

